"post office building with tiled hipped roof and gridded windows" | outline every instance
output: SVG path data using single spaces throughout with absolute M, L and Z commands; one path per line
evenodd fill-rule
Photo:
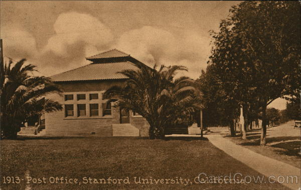
M 119 50 L 86 58 L 93 63 L 52 76 L 63 93 L 50 98 L 63 105 L 62 111 L 45 114 L 45 135 L 58 136 L 148 136 L 149 125 L 140 115 L 103 99 L 113 85 L 124 85 L 119 73 L 143 64 Z

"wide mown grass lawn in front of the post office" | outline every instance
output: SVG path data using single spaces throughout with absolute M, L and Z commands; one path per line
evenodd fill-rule
M 262 176 L 204 139 L 19 137 L 18 140 L 2 140 L 0 145 L 1 189 L 25 189 L 26 171 L 29 171 L 32 178 L 46 178 L 46 183 L 41 184 L 33 184 L 32 180 L 30 185 L 33 189 L 286 189 L 279 183 L 254 181 L 249 184 L 218 183 L 213 180 L 196 183 L 194 178 L 200 172 L 205 172 L 208 176 L 225 176 L 230 173 L 233 176 L 236 172 L 243 176 Z M 4 184 L 5 176 L 19 176 L 24 180 L 18 184 Z M 51 177 L 78 178 L 81 184 L 51 184 Z M 97 178 L 98 182 L 100 178 L 128 177 L 130 184 L 123 183 L 127 183 L 123 180 L 120 184 L 84 184 L 86 180 L 83 177 Z M 139 177 L 149 179 L 149 183 L 136 183 Z M 180 177 L 190 181 L 183 180 L 181 184 Z M 161 181 L 150 184 L 150 178 L 164 179 L 165 184 L 161 184 Z M 178 179 L 179 183 L 170 184 L 172 179 Z M 266 178 L 265 180 L 267 181 Z

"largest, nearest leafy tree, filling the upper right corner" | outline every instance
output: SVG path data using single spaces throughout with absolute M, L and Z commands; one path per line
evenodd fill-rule
M 264 145 L 267 105 L 284 95 L 299 95 L 300 4 L 246 1 L 230 13 L 220 32 L 212 32 L 210 64 L 217 65 L 227 96 L 246 110 L 244 117 L 251 109 L 260 112 Z

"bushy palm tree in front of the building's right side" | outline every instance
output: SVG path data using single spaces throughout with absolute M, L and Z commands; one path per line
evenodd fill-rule
M 137 70 L 119 72 L 128 80 L 124 87 L 113 86 L 104 93 L 106 99 L 143 116 L 149 123 L 149 138 L 164 138 L 165 128 L 177 124 L 192 124 L 193 113 L 200 105 L 200 92 L 188 77 L 174 79 L 184 66 L 164 65 L 149 68 L 135 65 Z

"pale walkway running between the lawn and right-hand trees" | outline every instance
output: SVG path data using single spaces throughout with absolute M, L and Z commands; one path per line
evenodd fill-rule
M 248 148 L 235 144 L 229 139 L 223 138 L 220 134 L 208 134 L 204 136 L 207 137 L 209 141 L 217 148 L 265 176 L 273 175 L 275 178 L 278 176 L 298 176 L 298 183 L 286 183 L 285 181 L 282 184 L 291 189 L 300 189 L 300 168 L 258 154 Z

